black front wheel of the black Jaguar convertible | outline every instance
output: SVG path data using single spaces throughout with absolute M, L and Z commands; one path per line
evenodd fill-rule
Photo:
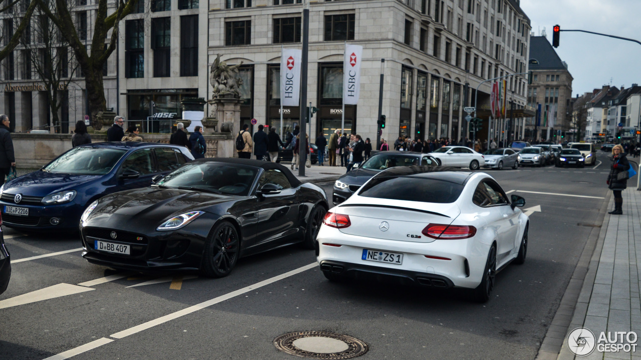
M 213 229 L 205 245 L 201 272 L 210 277 L 225 277 L 238 261 L 240 240 L 234 225 L 221 222 Z

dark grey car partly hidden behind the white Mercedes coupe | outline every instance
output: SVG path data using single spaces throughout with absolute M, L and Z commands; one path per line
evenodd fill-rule
M 360 167 L 347 172 L 334 183 L 332 202 L 338 205 L 349 198 L 371 177 L 390 167 L 420 165 L 437 167 L 438 161 L 433 156 L 413 151 L 381 151 L 363 162 Z

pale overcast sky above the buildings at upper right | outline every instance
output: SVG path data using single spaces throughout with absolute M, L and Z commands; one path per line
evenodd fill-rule
M 520 6 L 535 35 L 545 28 L 550 43 L 555 24 L 641 41 L 641 0 L 521 0 Z M 574 78 L 572 96 L 608 84 L 641 85 L 641 44 L 562 31 L 556 53 Z

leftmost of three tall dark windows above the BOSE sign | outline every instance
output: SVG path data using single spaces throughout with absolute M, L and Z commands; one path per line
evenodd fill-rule
M 125 78 L 144 78 L 145 24 L 144 19 L 126 20 L 124 24 Z

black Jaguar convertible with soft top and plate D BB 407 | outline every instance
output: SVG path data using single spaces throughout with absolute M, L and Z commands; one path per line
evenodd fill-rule
M 83 258 L 113 268 L 223 277 L 241 256 L 293 243 L 313 249 L 328 209 L 322 188 L 266 161 L 199 159 L 154 180 L 87 208 Z

